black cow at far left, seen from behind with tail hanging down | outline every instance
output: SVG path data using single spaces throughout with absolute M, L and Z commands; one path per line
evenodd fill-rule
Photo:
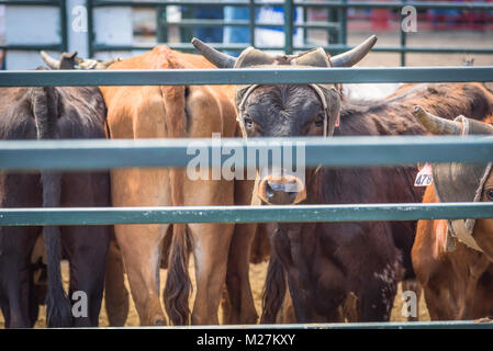
M 0 139 L 105 138 L 105 105 L 98 88 L 0 89 Z M 108 172 L 0 172 L 1 207 L 110 206 Z M 31 254 L 43 234 L 47 258 L 46 320 L 49 327 L 98 326 L 110 242 L 109 226 L 0 227 L 0 305 L 5 326 L 32 327 L 38 296 Z M 60 274 L 70 263 L 69 296 Z M 83 303 L 75 316 L 72 304 Z M 76 297 L 71 301 L 70 297 Z

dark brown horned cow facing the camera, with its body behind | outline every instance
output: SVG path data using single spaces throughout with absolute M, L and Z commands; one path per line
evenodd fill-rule
M 322 49 L 272 57 L 249 48 L 238 59 L 200 41 L 193 43 L 217 67 L 289 69 L 294 65 L 351 66 L 369 52 L 376 38 L 370 38 L 350 53 L 336 57 L 327 57 Z M 422 102 L 434 111 L 461 111 L 484 116 L 493 110 L 492 94 L 475 84 L 416 84 L 407 86 L 400 90 L 401 93 L 380 102 L 343 101 L 338 128 L 334 127 L 340 100 L 337 90 L 330 86 L 240 87 L 236 103 L 248 137 L 423 135 L 426 131 L 415 121 L 410 104 L 413 106 L 414 99 L 428 90 L 428 98 Z M 434 94 L 435 90 L 440 91 Z M 446 103 L 441 99 L 442 93 L 448 98 Z M 471 103 L 471 100 L 477 103 Z M 267 204 L 414 203 L 422 197 L 422 191 L 413 186 L 416 171 L 410 167 L 307 169 L 305 183 L 285 170 L 280 174 L 269 171 L 259 170 L 258 195 Z M 284 282 L 288 282 L 300 322 L 340 320 L 343 317 L 388 320 L 401 275 L 414 276 L 410 253 L 415 224 L 277 224 L 276 230 L 269 234 L 272 257 L 262 320 L 274 321 L 285 291 Z M 357 310 L 349 308 L 346 315 L 341 315 L 341 305 L 356 306 Z

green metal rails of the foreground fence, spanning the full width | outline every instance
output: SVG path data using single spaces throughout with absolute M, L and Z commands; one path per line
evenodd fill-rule
M 358 73 L 352 73 L 354 71 Z M 215 73 L 214 73 L 215 72 Z M 383 78 L 379 72 L 384 72 Z M 266 76 L 268 76 L 266 78 Z M 194 80 L 193 80 L 194 78 Z M 169 80 L 171 79 L 171 80 Z M 383 80 L 382 80 L 383 79 Z M 3 87 L 22 86 L 116 86 L 116 84 L 222 84 L 279 82 L 371 82 L 371 81 L 493 81 L 493 67 L 396 68 L 396 69 L 311 69 L 298 70 L 155 70 L 155 71 L 9 71 L 0 72 Z M 314 81 L 313 81 L 314 80 Z M 146 140 L 4 140 L 0 141 L 0 169 L 80 170 L 120 167 L 184 167 L 190 139 Z M 209 152 L 235 143 L 270 149 L 290 141 L 303 143 L 305 165 L 332 167 L 374 167 L 435 162 L 493 161 L 493 138 L 484 136 L 334 137 L 289 139 L 211 139 L 201 141 Z M 245 154 L 248 155 L 248 154 Z M 226 156 L 227 157 L 227 156 Z M 224 159 L 225 157 L 223 157 Z M 245 166 L 256 165 L 244 157 Z M 343 204 L 293 206 L 194 206 L 194 207 L 85 207 L 85 208 L 0 208 L 1 226 L 102 225 L 158 223 L 248 223 L 248 222 L 354 222 L 415 220 L 418 218 L 491 218 L 493 203 L 437 204 Z M 253 328 L 493 328 L 474 321 L 313 324 L 257 326 Z M 188 327 L 187 327 L 188 328 Z

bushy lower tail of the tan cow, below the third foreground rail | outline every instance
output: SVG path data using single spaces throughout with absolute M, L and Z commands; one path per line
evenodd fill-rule
M 190 319 L 188 301 L 192 283 L 188 273 L 189 242 L 187 226 L 173 224 L 172 228 L 168 278 L 165 287 L 165 306 L 169 320 L 173 325 L 188 325 Z

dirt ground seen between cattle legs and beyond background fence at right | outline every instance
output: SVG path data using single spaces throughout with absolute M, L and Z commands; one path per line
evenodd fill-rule
M 369 32 L 356 32 L 349 35 L 348 44 L 358 44 L 370 34 Z M 396 33 L 377 33 L 379 35 L 378 45 L 394 45 L 399 44 L 399 32 Z M 314 45 L 323 44 L 323 35 L 314 35 L 312 42 Z M 493 47 L 493 35 L 492 33 L 480 33 L 480 32 L 417 32 L 412 33 L 407 36 L 407 44 L 410 46 L 475 46 L 475 47 Z M 464 55 L 464 54 L 407 54 L 407 66 L 459 66 L 462 64 L 464 58 L 474 58 L 474 66 L 493 65 L 493 55 Z M 367 56 L 359 65 L 359 67 L 395 67 L 400 66 L 400 55 L 399 54 L 383 54 L 383 53 L 372 53 Z M 64 279 L 67 282 L 67 264 L 63 264 Z M 193 267 L 191 267 L 191 272 L 193 274 Z M 250 282 L 254 291 L 254 298 L 256 303 L 256 308 L 258 314 L 260 314 L 261 308 L 261 293 L 264 281 L 267 272 L 267 263 L 251 264 L 250 265 Z M 161 270 L 161 292 L 164 288 L 164 282 L 166 282 L 166 271 Z M 192 279 L 193 281 L 193 279 Z M 190 306 L 192 305 L 193 296 L 191 298 Z M 394 307 L 392 310 L 391 320 L 402 321 L 405 320 L 402 317 L 401 309 L 403 306 L 401 286 L 399 288 L 397 295 L 395 297 Z M 221 316 L 221 312 L 220 312 Z M 429 315 L 426 308 L 424 298 L 419 301 L 419 320 L 429 320 Z M 44 307 L 40 312 L 40 320 L 36 327 L 45 326 L 45 310 Z M 104 306 L 101 310 L 100 326 L 107 327 L 108 319 L 104 310 Z M 126 321 L 126 326 L 138 326 L 138 316 L 131 302 L 131 310 Z M 3 327 L 3 318 L 0 314 L 0 327 Z

